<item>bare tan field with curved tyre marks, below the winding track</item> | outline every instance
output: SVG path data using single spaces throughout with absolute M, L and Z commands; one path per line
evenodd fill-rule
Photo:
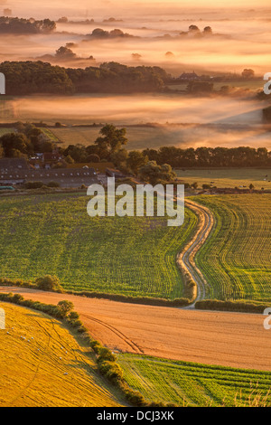
M 89 333 L 113 350 L 203 364 L 271 371 L 264 316 L 124 304 L 32 289 L 0 287 L 57 304 L 70 299 Z

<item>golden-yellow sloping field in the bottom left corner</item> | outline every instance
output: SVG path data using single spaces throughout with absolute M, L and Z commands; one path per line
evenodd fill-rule
M 29 308 L 0 303 L 1 407 L 122 405 L 96 364 L 61 322 Z

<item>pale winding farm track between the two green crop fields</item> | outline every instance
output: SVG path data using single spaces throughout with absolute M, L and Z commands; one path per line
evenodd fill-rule
M 177 264 L 180 269 L 182 269 L 185 274 L 189 275 L 197 285 L 197 294 L 193 304 L 190 306 L 190 308 L 193 308 L 196 301 L 205 297 L 206 288 L 208 288 L 208 282 L 195 263 L 195 255 L 210 235 L 214 226 L 214 218 L 210 210 L 199 203 L 186 200 L 185 204 L 199 217 L 199 224 L 194 237 L 179 253 L 177 258 Z

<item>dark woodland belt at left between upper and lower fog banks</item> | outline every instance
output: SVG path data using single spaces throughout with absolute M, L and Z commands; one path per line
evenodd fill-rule
M 158 66 L 130 67 L 117 62 L 72 69 L 43 61 L 5 61 L 0 63 L 0 72 L 5 74 L 7 95 L 156 92 L 170 78 Z

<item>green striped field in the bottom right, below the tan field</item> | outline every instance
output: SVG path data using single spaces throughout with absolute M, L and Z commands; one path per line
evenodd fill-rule
M 184 406 L 257 407 L 271 404 L 271 373 L 118 354 L 126 382 L 150 401 Z

